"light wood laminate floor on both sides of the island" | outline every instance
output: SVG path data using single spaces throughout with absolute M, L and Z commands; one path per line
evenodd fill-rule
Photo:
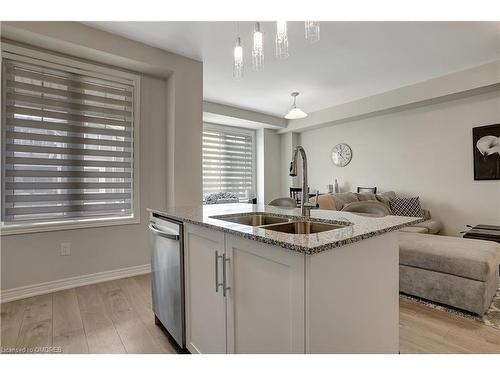
M 149 275 L 68 289 L 1 306 L 4 348 L 63 353 L 176 353 L 151 312 Z M 500 353 L 500 330 L 400 301 L 401 353 Z

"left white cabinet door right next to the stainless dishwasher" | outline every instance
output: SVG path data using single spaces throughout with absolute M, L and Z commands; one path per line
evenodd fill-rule
M 222 286 L 216 291 L 216 283 L 222 283 L 224 233 L 186 225 L 184 246 L 186 346 L 191 353 L 226 353 L 226 301 Z

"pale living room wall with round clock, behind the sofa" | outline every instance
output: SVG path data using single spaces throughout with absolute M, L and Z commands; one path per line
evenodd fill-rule
M 311 189 L 377 186 L 418 195 L 445 233 L 466 224 L 500 225 L 500 181 L 474 181 L 472 128 L 500 123 L 500 92 L 411 109 L 301 133 Z M 330 160 L 334 145 L 352 147 L 345 168 Z M 283 149 L 282 152 L 287 152 Z

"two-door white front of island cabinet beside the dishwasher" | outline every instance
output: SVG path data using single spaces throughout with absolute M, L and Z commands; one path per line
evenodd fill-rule
M 305 352 L 303 254 L 195 225 L 184 246 L 191 353 Z

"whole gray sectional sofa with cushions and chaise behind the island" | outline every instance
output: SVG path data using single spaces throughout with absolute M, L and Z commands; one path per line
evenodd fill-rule
M 318 198 L 319 208 L 360 215 L 390 215 L 394 192 L 337 193 Z M 412 296 L 484 314 L 498 288 L 500 244 L 436 236 L 441 223 L 424 210 L 422 223 L 400 230 L 399 290 Z

